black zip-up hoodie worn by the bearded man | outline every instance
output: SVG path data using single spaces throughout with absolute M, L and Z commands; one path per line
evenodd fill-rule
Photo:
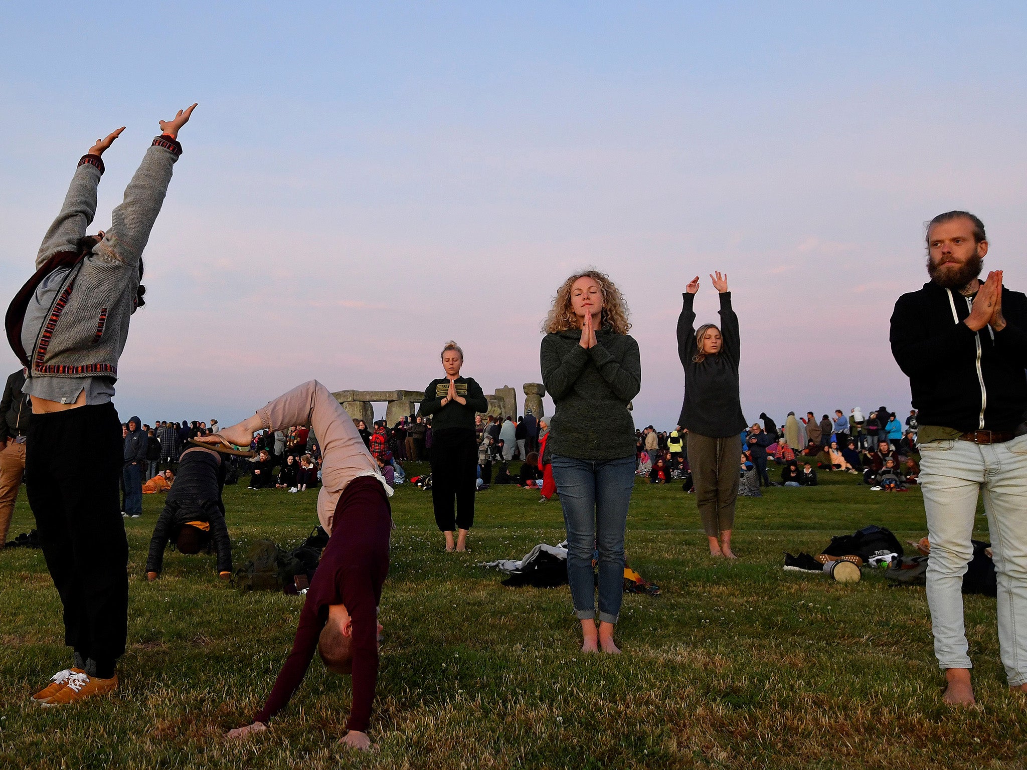
M 1002 288 L 1001 332 L 962 322 L 972 300 L 934 281 L 904 294 L 891 314 L 891 354 L 921 426 L 1012 432 L 1027 412 L 1027 296 Z

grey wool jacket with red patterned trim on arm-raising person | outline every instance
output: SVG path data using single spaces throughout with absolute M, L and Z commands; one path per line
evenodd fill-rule
M 179 143 L 167 137 L 153 141 L 125 188 L 124 200 L 111 214 L 110 230 L 68 271 L 47 319 L 32 330 L 35 343 L 25 350 L 32 364 L 30 378 L 117 379 L 118 358 L 136 311 L 140 259 L 181 152 Z M 77 248 L 97 210 L 102 172 L 98 156 L 86 155 L 79 161 L 61 214 L 36 256 L 37 270 L 54 255 Z

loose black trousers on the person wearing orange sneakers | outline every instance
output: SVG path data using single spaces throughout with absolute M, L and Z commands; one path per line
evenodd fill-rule
M 29 504 L 64 606 L 65 644 L 108 679 L 128 628 L 121 421 L 110 402 L 33 415 L 27 444 Z

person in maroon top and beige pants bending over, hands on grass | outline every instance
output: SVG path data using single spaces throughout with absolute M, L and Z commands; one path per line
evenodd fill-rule
M 271 695 L 240 738 L 267 729 L 300 686 L 316 650 L 329 670 L 351 673 L 353 700 L 342 742 L 369 748 L 367 730 L 378 681 L 378 603 L 388 574 L 391 488 L 352 418 L 316 380 L 278 396 L 253 417 L 197 440 L 249 447 L 254 433 L 309 425 L 321 442 L 317 517 L 331 536 L 307 590 L 299 626 Z

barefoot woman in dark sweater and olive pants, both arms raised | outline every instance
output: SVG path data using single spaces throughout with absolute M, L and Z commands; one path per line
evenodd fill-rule
M 687 286 L 678 318 L 678 355 L 685 368 L 685 402 L 678 424 L 688 430 L 688 465 L 710 553 L 734 559 L 731 529 L 741 431 L 747 426 L 738 395 L 738 317 L 731 309 L 727 275 L 718 272 L 710 278 L 720 293 L 721 329 L 705 323 L 695 330 L 697 275 Z

